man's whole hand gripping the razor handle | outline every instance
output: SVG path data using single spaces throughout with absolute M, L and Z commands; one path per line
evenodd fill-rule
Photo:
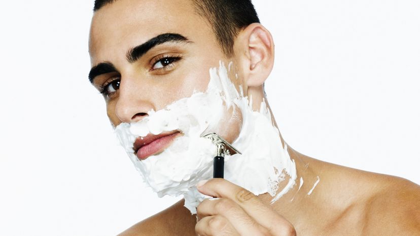
M 216 199 L 204 200 L 197 207 L 200 235 L 296 235 L 293 225 L 265 206 L 252 192 L 225 179 L 200 182 L 198 191 Z

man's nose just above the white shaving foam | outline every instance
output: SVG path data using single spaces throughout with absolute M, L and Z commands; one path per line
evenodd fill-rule
M 138 84 L 138 83 L 137 83 Z M 133 123 L 143 120 L 154 109 L 147 92 L 133 80 L 121 80 L 115 113 L 121 122 Z

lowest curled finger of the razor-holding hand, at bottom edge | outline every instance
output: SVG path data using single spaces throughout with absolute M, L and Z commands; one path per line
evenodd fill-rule
M 206 216 L 195 225 L 195 232 L 200 236 L 239 236 L 229 221 L 221 216 Z

